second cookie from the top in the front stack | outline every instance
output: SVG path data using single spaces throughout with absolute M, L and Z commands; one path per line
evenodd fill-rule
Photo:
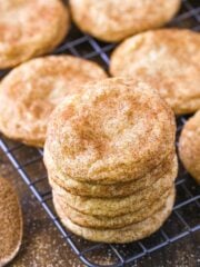
M 152 171 L 148 172 L 144 177 L 138 178 L 133 181 L 118 182 L 111 185 L 82 182 L 61 176 L 47 150 L 46 160 L 48 161 L 49 167 L 48 178 L 52 188 L 54 186 L 61 187 L 64 190 L 71 192 L 72 195 L 83 197 L 111 198 L 130 196 L 139 190 L 149 188 L 160 177 L 169 172 L 171 169 L 176 171 L 173 166 L 177 162 L 177 156 L 174 156 L 174 152 L 170 154 L 163 162 L 157 166 Z

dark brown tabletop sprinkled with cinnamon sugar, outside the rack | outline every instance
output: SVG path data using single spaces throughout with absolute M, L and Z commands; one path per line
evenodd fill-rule
M 61 238 L 40 204 L 31 195 L 9 160 L 0 150 L 0 176 L 8 178 L 18 191 L 24 219 L 23 243 L 10 267 L 83 266 Z M 162 248 L 129 266 L 198 267 L 200 266 L 200 231 Z

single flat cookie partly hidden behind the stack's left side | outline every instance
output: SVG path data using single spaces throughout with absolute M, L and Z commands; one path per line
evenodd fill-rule
M 42 147 L 49 117 L 64 96 L 80 92 L 84 82 L 106 77 L 94 62 L 71 56 L 22 63 L 0 83 L 0 131 Z

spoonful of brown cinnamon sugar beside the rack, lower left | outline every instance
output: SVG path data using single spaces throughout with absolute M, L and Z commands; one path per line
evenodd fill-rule
M 10 182 L 0 177 L 0 266 L 11 261 L 22 240 L 22 214 Z

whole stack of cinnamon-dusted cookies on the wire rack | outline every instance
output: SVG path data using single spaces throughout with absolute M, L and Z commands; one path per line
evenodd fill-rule
M 86 239 L 128 243 L 170 215 L 177 156 L 174 118 L 147 81 L 84 85 L 53 111 L 44 164 L 63 225 Z

